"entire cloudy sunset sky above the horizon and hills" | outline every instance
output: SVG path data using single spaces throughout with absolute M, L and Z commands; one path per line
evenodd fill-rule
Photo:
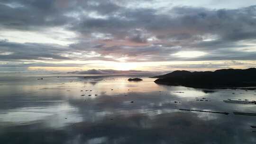
M 256 67 L 256 0 L 0 0 L 0 73 Z

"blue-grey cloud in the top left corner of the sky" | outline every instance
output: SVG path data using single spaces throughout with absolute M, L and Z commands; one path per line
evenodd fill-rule
M 64 9 L 56 8 L 55 2 L 55 0 L 1 0 L 0 26 L 21 30 L 63 26 L 72 18 L 64 16 Z

